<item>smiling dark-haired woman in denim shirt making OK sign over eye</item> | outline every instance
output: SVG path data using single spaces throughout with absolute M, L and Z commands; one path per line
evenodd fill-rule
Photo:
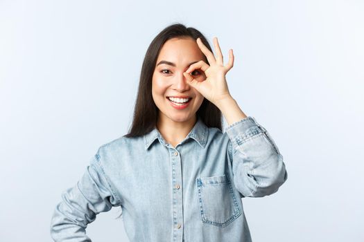
M 287 172 L 268 131 L 229 93 L 232 50 L 226 65 L 217 38 L 214 50 L 182 24 L 153 39 L 130 133 L 102 145 L 62 194 L 55 241 L 89 241 L 87 224 L 113 206 L 130 241 L 251 241 L 241 198 L 277 192 Z

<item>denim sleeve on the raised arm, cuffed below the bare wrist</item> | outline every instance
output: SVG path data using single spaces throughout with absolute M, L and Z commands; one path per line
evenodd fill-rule
M 262 197 L 277 192 L 288 174 L 268 131 L 248 116 L 227 126 L 225 132 L 234 184 L 241 196 Z

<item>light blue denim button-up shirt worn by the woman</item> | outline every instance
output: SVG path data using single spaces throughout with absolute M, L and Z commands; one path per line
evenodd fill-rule
M 98 148 L 51 218 L 54 241 L 91 241 L 88 223 L 121 206 L 132 242 L 252 241 L 242 199 L 277 192 L 287 172 L 266 129 L 248 116 L 222 133 L 198 117 L 176 147 L 153 129 Z

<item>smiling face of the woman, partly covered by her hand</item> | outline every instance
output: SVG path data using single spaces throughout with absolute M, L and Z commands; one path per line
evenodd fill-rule
M 157 58 L 152 81 L 152 95 L 159 109 L 161 120 L 170 119 L 174 122 L 184 122 L 194 118 L 200 108 L 204 97 L 192 86 L 187 84 L 184 71 L 189 66 L 200 60 L 205 60 L 205 55 L 194 39 L 168 39 L 162 46 Z M 198 81 L 206 79 L 205 73 L 195 70 L 191 75 Z M 187 99 L 173 99 L 168 97 L 186 97 Z

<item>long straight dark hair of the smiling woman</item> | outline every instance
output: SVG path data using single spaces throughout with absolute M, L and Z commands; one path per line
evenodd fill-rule
M 191 37 L 195 40 L 200 37 L 202 43 L 205 44 L 205 46 L 207 46 L 207 48 L 209 48 L 209 50 L 212 52 L 209 42 L 200 31 L 196 30 L 196 28 L 187 28 L 183 24 L 172 24 L 159 32 L 159 34 L 150 43 L 150 46 L 146 51 L 143 66 L 141 66 L 139 89 L 137 101 L 135 102 L 132 126 L 128 131 L 129 133 L 125 134 L 123 137 L 129 138 L 144 136 L 144 134 L 149 133 L 155 128 L 158 118 L 158 108 L 155 105 L 152 96 L 153 72 L 155 70 L 157 57 L 162 46 L 168 39 L 175 37 Z M 205 62 L 209 64 L 206 57 Z M 222 130 L 221 111 L 217 106 L 215 106 L 206 98 L 202 101 L 202 104 L 196 112 L 196 115 L 202 119 L 207 127 L 216 127 Z

